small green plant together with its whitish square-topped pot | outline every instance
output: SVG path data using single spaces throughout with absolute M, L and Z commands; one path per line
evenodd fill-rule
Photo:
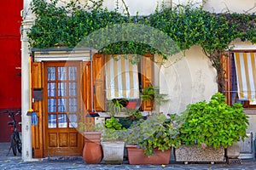
M 102 129 L 103 161 L 107 164 L 123 162 L 125 142 L 120 131 L 125 128 L 113 116 L 108 119 Z

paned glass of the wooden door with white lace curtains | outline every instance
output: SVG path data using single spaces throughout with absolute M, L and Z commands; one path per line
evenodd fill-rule
M 67 70 L 68 68 L 68 70 Z M 48 67 L 48 127 L 67 127 L 67 111 L 76 112 L 77 105 L 77 67 Z M 67 73 L 68 72 L 68 73 Z M 67 80 L 68 74 L 68 80 Z M 57 76 L 57 77 L 56 77 Z M 57 84 L 56 84 L 57 83 Z M 56 90 L 56 85 L 58 90 Z M 68 86 L 68 87 L 67 87 Z M 58 97 L 58 99 L 57 99 Z M 67 100 L 68 99 L 68 100 Z M 67 107 L 68 103 L 68 107 Z M 70 114 L 70 126 L 77 127 L 76 114 Z

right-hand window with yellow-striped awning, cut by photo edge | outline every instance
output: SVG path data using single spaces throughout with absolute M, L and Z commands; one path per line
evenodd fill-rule
M 230 105 L 241 103 L 245 108 L 256 108 L 256 51 L 232 52 L 228 60 Z

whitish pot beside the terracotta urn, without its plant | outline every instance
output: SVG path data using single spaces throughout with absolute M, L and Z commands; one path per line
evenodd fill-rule
M 124 159 L 124 141 L 102 142 L 103 161 L 107 164 L 121 164 Z

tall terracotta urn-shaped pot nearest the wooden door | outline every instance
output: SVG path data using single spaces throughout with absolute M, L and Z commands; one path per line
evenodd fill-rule
M 102 161 L 101 145 L 102 132 L 94 122 L 79 122 L 79 131 L 84 135 L 83 158 L 88 164 L 97 164 Z

